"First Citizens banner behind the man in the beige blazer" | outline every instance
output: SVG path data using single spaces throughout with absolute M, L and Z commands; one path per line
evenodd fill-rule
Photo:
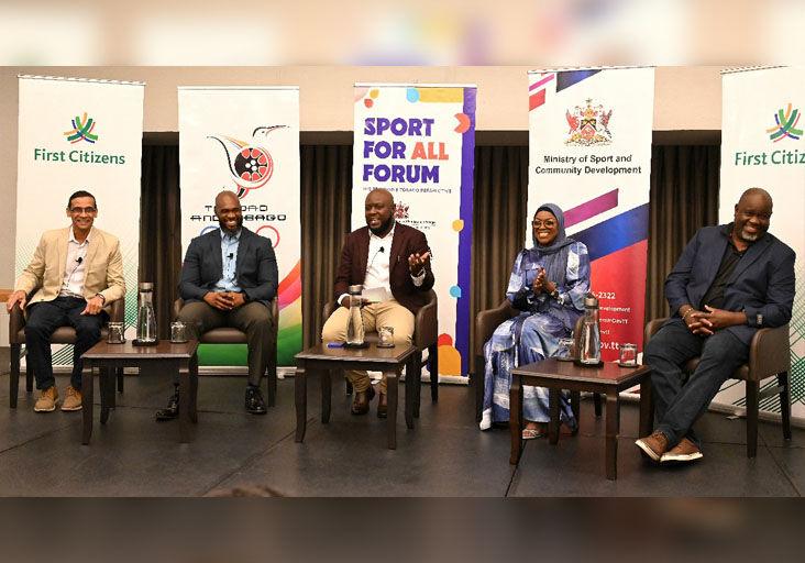
M 96 197 L 95 225 L 120 239 L 125 322 L 136 319 L 143 82 L 20 76 L 15 277 L 44 231 L 70 225 L 67 198 Z M 71 345 L 53 364 L 73 364 Z

